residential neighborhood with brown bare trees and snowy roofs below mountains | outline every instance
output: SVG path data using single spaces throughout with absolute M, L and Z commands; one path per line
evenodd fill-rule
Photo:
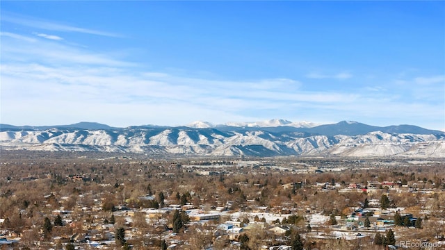
M 382 249 L 403 248 L 414 238 L 445 243 L 445 181 L 433 171 L 442 163 L 431 167 L 432 175 L 397 169 L 387 175 L 371 162 L 313 159 L 43 159 L 2 163 L 2 249 Z M 78 172 L 66 172 L 69 162 Z M 39 170 L 22 176 L 23 170 L 14 170 L 18 164 Z

